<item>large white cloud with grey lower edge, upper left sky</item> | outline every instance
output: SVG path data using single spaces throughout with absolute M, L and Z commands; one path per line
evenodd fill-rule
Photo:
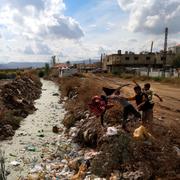
M 29 39 L 83 37 L 79 23 L 64 16 L 64 10 L 63 0 L 7 1 L 0 8 L 0 25 L 9 34 Z

